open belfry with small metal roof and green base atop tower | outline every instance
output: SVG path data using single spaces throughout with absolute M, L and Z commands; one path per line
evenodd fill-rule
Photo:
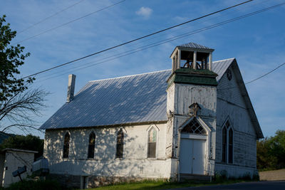
M 170 56 L 172 75 L 167 80 L 168 86 L 172 83 L 217 85 L 217 74 L 212 72 L 213 51 L 192 42 L 176 46 Z

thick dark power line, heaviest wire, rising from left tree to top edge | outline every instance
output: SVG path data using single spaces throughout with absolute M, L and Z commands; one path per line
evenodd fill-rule
M 120 46 L 124 46 L 124 45 L 126 45 L 126 44 L 128 44 L 128 43 L 133 43 L 134 41 L 139 41 L 139 40 L 142 39 L 142 38 L 147 38 L 147 37 L 153 36 L 153 35 L 155 35 L 155 34 L 157 34 L 157 33 L 162 33 L 162 32 L 164 32 L 164 31 L 170 30 L 170 29 L 172 29 L 172 28 L 176 28 L 176 27 L 178 27 L 178 26 L 182 26 L 182 25 L 184 25 L 184 24 L 186 24 L 186 23 L 190 23 L 190 22 L 192 22 L 192 21 L 197 21 L 197 20 L 199 20 L 199 19 L 203 19 L 204 17 L 211 16 L 211 15 L 213 15 L 213 14 L 217 14 L 217 13 L 219 13 L 219 12 L 226 11 L 226 10 L 228 10 L 228 9 L 232 9 L 232 8 L 234 8 L 234 7 L 236 7 L 236 6 L 240 6 L 240 5 L 242 5 L 242 4 L 247 4 L 247 3 L 249 3 L 250 1 L 254 1 L 254 0 L 244 1 L 244 2 L 242 2 L 242 3 L 240 3 L 240 4 L 235 4 L 234 6 L 229 6 L 229 7 L 225 8 L 225 9 L 220 9 L 219 11 L 214 11 L 214 12 L 212 12 L 212 13 L 210 13 L 210 14 L 206 14 L 206 15 L 204 15 L 204 16 L 199 16 L 199 17 L 196 18 L 196 19 L 192 19 L 192 20 L 190 20 L 190 21 L 185 21 L 185 22 L 180 23 L 180 24 L 177 24 L 177 25 L 175 25 L 175 26 L 170 26 L 169 28 L 165 28 L 165 29 L 162 29 L 162 30 L 160 30 L 160 31 L 156 31 L 156 32 L 154 32 L 154 33 L 147 34 L 147 35 L 142 36 L 142 37 L 140 37 L 140 38 L 135 38 L 135 39 L 132 40 L 132 41 L 127 41 L 127 42 L 125 42 L 125 43 L 120 43 L 120 44 L 117 45 L 117 46 L 113 46 L 113 47 L 110 47 L 110 48 L 106 48 L 106 49 L 104 49 L 103 51 L 98 51 L 98 52 L 92 53 L 92 54 L 90 54 L 90 55 L 88 55 L 88 56 L 84 56 L 84 57 L 81 57 L 81 58 L 77 58 L 77 59 L 75 59 L 75 60 L 68 61 L 67 63 L 63 63 L 63 64 L 61 64 L 61 65 L 56 65 L 56 66 L 54 66 L 54 67 L 52 67 L 52 68 L 48 68 L 48 69 L 46 69 L 46 70 L 39 71 L 39 72 L 34 73 L 34 74 L 32 74 L 32 75 L 28 75 L 28 76 L 26 76 L 26 77 L 24 77 L 24 78 L 29 78 L 29 77 L 31 77 L 31 76 L 33 76 L 33 75 L 38 75 L 38 74 L 40 74 L 40 73 L 45 73 L 45 72 L 48 71 L 48 70 L 53 70 L 53 69 L 55 69 L 55 68 L 62 67 L 63 65 L 68 65 L 68 64 L 73 63 L 73 62 L 76 62 L 76 61 L 78 61 L 78 60 L 82 60 L 82 59 L 84 59 L 84 58 L 88 58 L 88 57 L 90 57 L 90 56 L 95 56 L 95 55 L 97 55 L 97 54 L 99 54 L 99 53 L 103 53 L 103 52 L 105 52 L 105 51 L 110 51 L 111 49 L 118 48 L 118 47 L 120 47 Z M 21 79 L 24 79 L 24 78 L 21 78 Z

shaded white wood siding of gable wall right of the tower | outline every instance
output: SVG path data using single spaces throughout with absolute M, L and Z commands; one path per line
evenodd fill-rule
M 227 118 L 234 130 L 233 164 L 222 163 L 222 127 Z M 228 80 L 227 74 L 224 74 L 217 87 L 216 169 L 228 170 L 232 175 L 242 174 L 247 169 L 252 173 L 257 165 L 256 141 L 254 126 L 232 70 L 232 80 Z M 238 166 L 241 172 L 236 171 Z

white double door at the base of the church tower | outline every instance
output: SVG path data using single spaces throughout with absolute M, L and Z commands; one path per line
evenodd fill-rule
M 180 174 L 205 174 L 205 139 L 181 139 Z

